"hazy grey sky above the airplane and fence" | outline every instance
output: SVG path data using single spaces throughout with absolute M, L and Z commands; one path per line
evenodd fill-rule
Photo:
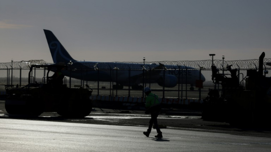
M 0 0 L 0 62 L 52 63 L 43 29 L 75 60 L 271 58 L 271 0 Z

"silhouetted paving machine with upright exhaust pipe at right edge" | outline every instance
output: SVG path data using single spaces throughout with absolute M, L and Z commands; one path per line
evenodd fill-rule
M 221 84 L 222 89 L 221 94 L 218 89 L 210 90 L 203 100 L 203 120 L 228 122 L 236 127 L 270 126 L 271 78 L 266 77 L 268 71 L 263 70 L 264 56 L 262 52 L 258 71 L 247 70 L 240 81 L 245 81 L 245 86 L 241 85 L 237 69 L 231 69 L 231 65 L 227 67 L 230 74 L 220 74 L 216 66 L 211 66 L 213 83 Z

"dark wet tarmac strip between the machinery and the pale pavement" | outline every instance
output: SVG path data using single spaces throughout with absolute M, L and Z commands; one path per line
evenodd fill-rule
M 5 110 L 5 101 L 0 100 L 0 119 L 31 119 L 43 121 L 61 121 L 69 123 L 90 123 L 101 125 L 124 125 L 146 127 L 150 115 L 141 110 L 93 108 L 90 115 L 82 119 L 64 118 L 56 112 L 44 112 L 39 117 L 10 115 Z M 189 109 L 163 109 L 158 117 L 158 124 L 163 129 L 228 133 L 244 136 L 271 137 L 270 128 L 235 128 L 226 122 L 204 121 L 201 111 Z

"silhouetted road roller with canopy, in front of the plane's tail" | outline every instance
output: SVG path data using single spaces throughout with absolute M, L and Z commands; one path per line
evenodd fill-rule
M 33 83 L 31 76 L 33 68 L 47 68 L 46 77 L 42 83 Z M 43 112 L 57 112 L 64 117 L 85 117 L 92 110 L 90 96 L 92 90 L 68 88 L 64 82 L 64 75 L 58 79 L 49 77 L 49 72 L 55 69 L 67 68 L 56 64 L 32 65 L 29 71 L 28 84 L 23 87 L 6 89 L 7 98 L 5 109 L 9 114 L 39 116 Z M 32 80 L 32 81 L 31 81 Z M 64 79 L 66 80 L 66 78 Z

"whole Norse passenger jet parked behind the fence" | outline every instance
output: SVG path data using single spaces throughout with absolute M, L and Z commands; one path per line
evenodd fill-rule
M 196 83 L 196 80 L 199 80 L 199 75 L 201 80 L 205 81 L 203 74 L 199 74 L 199 70 L 195 70 L 192 67 L 163 65 L 161 63 L 158 65 L 74 60 L 51 31 L 44 29 L 44 33 L 53 62 L 55 64 L 70 64 L 69 66 L 72 70 L 62 70 L 62 73 L 71 78 L 94 82 L 116 82 L 113 88 L 122 89 L 123 86 L 132 86 L 132 89 L 135 90 L 142 90 L 143 87 L 139 84 L 143 82 L 157 83 L 159 86 L 173 88 L 179 83 L 178 78 L 180 78 L 180 83 L 190 84 L 190 90 L 194 90 L 193 85 Z M 186 68 L 188 70 L 179 70 Z

